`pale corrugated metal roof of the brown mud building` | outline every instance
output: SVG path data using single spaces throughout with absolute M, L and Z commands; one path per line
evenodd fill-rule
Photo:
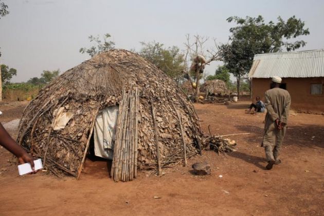
M 324 49 L 255 55 L 248 77 L 273 76 L 324 77 Z

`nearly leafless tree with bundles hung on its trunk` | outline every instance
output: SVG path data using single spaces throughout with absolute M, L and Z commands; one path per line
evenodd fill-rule
M 191 40 L 190 35 L 186 35 L 185 46 L 187 48 L 185 59 L 185 76 L 188 78 L 192 86 L 195 86 L 195 101 L 199 100 L 200 95 L 200 80 L 204 72 L 206 65 L 209 65 L 213 61 L 222 61 L 222 54 L 224 50 L 220 49 L 217 45 L 215 39 L 213 40 L 214 46 L 209 50 L 205 49 L 206 42 L 209 40 L 206 36 L 194 35 L 193 40 Z M 207 57 L 207 58 L 206 58 Z M 188 67 L 188 63 L 191 62 L 191 66 Z M 195 85 L 194 85 L 195 83 Z

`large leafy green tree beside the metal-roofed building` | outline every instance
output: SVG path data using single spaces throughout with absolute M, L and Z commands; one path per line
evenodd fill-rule
M 224 63 L 237 78 L 238 92 L 241 77 L 248 73 L 254 55 L 260 53 L 279 52 L 285 48 L 287 51 L 296 50 L 305 46 L 304 41 L 292 41 L 300 35 L 310 34 L 304 28 L 304 22 L 295 16 L 284 21 L 280 16 L 278 22 L 265 23 L 263 17 L 241 18 L 231 16 L 229 23 L 235 22 L 237 26 L 229 29 L 231 44 L 223 45 L 226 52 L 222 52 Z

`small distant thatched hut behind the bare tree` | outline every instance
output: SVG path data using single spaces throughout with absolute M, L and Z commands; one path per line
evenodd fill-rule
M 201 92 L 208 94 L 229 94 L 227 85 L 222 80 L 207 80 L 200 88 Z

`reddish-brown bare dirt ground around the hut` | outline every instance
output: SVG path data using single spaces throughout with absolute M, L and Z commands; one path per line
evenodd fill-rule
M 19 118 L 25 105 L 0 105 L 0 122 Z M 250 133 L 229 137 L 237 152 L 204 151 L 188 167 L 164 169 L 161 177 L 139 172 L 128 183 L 114 183 L 106 162 L 90 160 L 78 181 L 41 172 L 18 176 L 0 147 L 0 215 L 323 215 L 324 116 L 290 116 L 282 164 L 268 171 L 260 148 L 264 114 L 245 114 L 247 105 L 195 104 L 204 132 L 210 125 L 220 135 Z M 197 161 L 208 161 L 212 174 L 192 175 Z

